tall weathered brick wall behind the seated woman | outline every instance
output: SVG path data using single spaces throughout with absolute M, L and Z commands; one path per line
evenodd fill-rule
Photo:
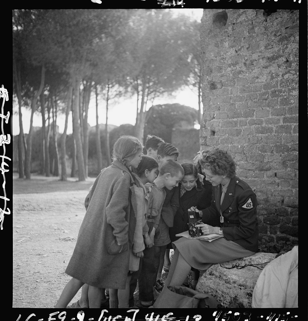
M 298 242 L 298 20 L 221 9 L 201 20 L 200 145 L 230 152 L 255 191 L 263 252 Z

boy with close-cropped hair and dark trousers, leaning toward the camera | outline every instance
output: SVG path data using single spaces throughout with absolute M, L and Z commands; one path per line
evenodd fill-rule
M 149 211 L 147 213 L 147 224 L 149 227 L 147 237 L 151 238 L 152 244 L 154 241 L 154 247 L 145 248 L 141 270 L 139 271 L 140 308 L 151 306 L 154 300 L 153 288 L 160 262 L 160 247 L 156 246 L 155 242 L 160 242 L 160 239 L 163 237 L 163 239 L 169 239 L 168 243 L 170 243 L 169 228 L 167 230 L 162 229 L 163 219 L 161 218 L 162 208 L 167 195 L 166 191 L 177 187 L 183 176 L 184 169 L 180 163 L 175 160 L 166 160 L 163 163 L 161 162 L 159 175 L 154 180 L 154 184 L 145 184 L 150 195 Z

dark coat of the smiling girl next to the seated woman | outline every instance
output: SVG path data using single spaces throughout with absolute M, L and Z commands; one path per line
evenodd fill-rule
M 173 227 L 169 229 L 169 236 L 171 242 L 179 239 L 175 236 L 178 233 L 182 233 L 188 230 L 188 209 L 192 206 L 202 210 L 210 206 L 212 199 L 212 184 L 204 184 L 201 191 L 193 188 L 190 191 L 186 191 L 182 197 L 180 197 L 180 185 L 179 184 L 179 208 L 174 216 Z

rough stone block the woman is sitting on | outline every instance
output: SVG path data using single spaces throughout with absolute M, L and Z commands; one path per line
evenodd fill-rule
M 196 291 L 209 293 L 218 302 L 218 308 L 251 308 L 252 292 L 262 270 L 255 266 L 226 269 L 237 264 L 253 264 L 263 269 L 267 263 L 276 257 L 276 253 L 255 253 L 222 264 L 214 264 L 203 274 L 200 274 Z M 264 263 L 262 265 L 258 265 Z M 222 265 L 222 266 L 221 266 Z M 202 271 L 201 271 L 202 272 Z

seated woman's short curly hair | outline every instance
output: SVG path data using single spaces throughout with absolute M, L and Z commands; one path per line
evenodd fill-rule
M 226 175 L 229 178 L 236 175 L 233 158 L 219 148 L 204 153 L 199 162 L 202 167 L 209 169 L 213 174 Z

